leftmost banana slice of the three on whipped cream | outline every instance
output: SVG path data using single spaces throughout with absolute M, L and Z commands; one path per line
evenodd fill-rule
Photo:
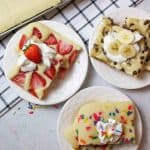
M 109 44 L 108 51 L 113 55 L 118 55 L 119 47 L 120 47 L 120 42 L 118 40 L 115 40 Z

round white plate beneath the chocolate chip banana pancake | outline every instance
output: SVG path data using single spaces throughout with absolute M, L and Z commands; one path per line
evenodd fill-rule
M 111 17 L 115 22 L 123 22 L 125 17 L 135 17 L 142 19 L 150 19 L 150 13 L 145 12 L 144 10 L 136 8 L 118 8 L 115 11 L 111 12 L 108 17 Z M 89 51 L 92 49 L 95 38 L 97 36 L 97 27 L 95 27 L 93 35 L 89 40 Z M 150 73 L 145 72 L 143 78 L 137 79 L 132 76 L 129 76 L 119 70 L 116 70 L 103 62 L 100 62 L 94 58 L 90 58 L 91 62 L 96 70 L 96 72 L 106 81 L 111 83 L 114 86 L 124 88 L 124 89 L 138 89 L 150 85 Z

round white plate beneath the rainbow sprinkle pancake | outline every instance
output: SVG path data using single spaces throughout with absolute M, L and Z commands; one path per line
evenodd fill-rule
M 103 86 L 90 87 L 78 92 L 76 95 L 70 98 L 70 100 L 64 105 L 57 121 L 57 138 L 61 150 L 71 150 L 71 145 L 64 138 L 64 130 L 72 124 L 79 108 L 93 100 L 131 101 L 126 95 L 124 95 L 120 91 Z M 142 138 L 142 120 L 137 108 L 135 125 L 137 144 L 115 146 L 113 150 L 138 149 Z

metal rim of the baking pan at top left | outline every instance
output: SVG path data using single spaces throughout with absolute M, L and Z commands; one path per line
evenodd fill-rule
M 4 31 L 4 32 L 2 32 L 2 33 L 0 33 L 0 40 L 3 39 L 6 35 L 8 35 L 8 34 L 9 34 L 10 32 L 12 32 L 13 30 L 16 30 L 16 29 L 22 27 L 23 25 L 25 25 L 25 24 L 27 24 L 27 23 L 33 21 L 34 19 L 36 19 L 36 18 L 38 18 L 38 17 L 40 17 L 40 16 L 42 16 L 42 15 L 44 15 L 44 14 L 46 14 L 46 13 L 52 11 L 52 10 L 54 10 L 54 9 L 56 9 L 57 7 L 63 7 L 63 6 L 65 6 L 65 5 L 66 5 L 67 3 L 69 3 L 70 1 L 71 1 L 71 0 L 62 0 L 62 2 L 60 2 L 58 5 L 56 5 L 56 6 L 54 6 L 54 7 L 51 7 L 51 8 L 48 8 L 48 9 L 46 9 L 46 10 L 44 10 L 44 11 L 42 11 L 42 12 L 36 14 L 35 16 L 33 16 L 33 17 L 31 17 L 31 18 L 29 18 L 29 19 L 27 19 L 27 20 L 21 22 L 20 24 L 17 24 L 16 26 L 11 27 L 11 28 L 9 28 L 8 30 L 6 30 L 6 31 Z

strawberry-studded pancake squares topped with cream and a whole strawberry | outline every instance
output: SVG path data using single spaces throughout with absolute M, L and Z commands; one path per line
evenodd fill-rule
M 48 26 L 26 26 L 16 46 L 18 59 L 8 77 L 33 96 L 42 99 L 52 81 L 68 69 L 81 47 Z

